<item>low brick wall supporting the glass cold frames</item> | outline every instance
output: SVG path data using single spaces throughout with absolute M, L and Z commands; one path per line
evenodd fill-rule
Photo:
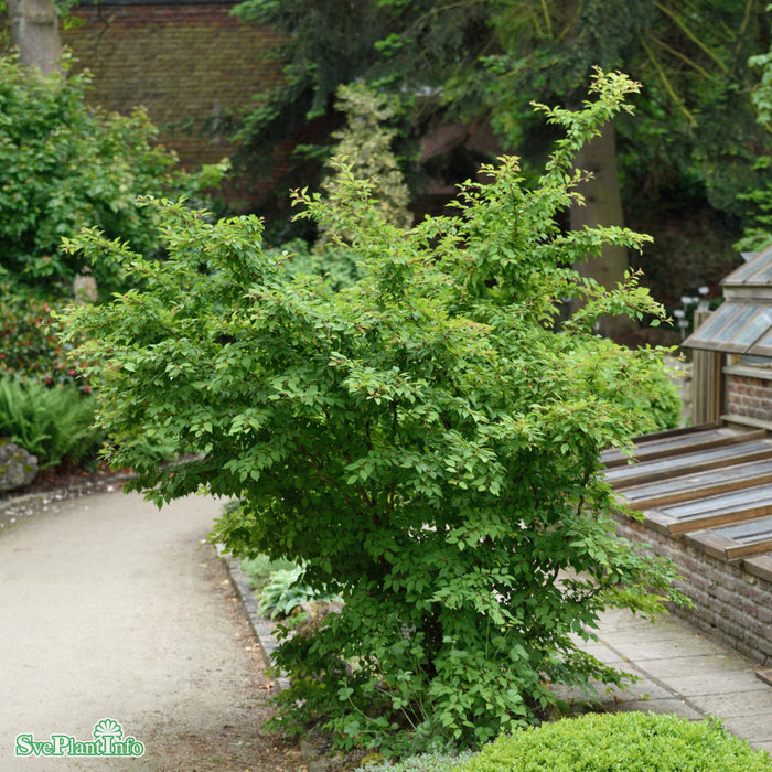
M 709 554 L 699 533 L 673 538 L 623 515 L 618 518 L 618 533 L 650 544 L 657 556 L 676 565 L 684 577 L 676 586 L 694 608 L 674 607 L 675 614 L 752 663 L 772 665 L 772 557 L 727 562 Z

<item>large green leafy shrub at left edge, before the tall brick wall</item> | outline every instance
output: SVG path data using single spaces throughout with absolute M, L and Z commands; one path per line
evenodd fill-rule
M 152 212 L 137 205 L 137 195 L 197 187 L 197 178 L 174 171 L 176 157 L 157 144 L 157 129 L 142 110 L 120 116 L 87 107 L 88 88 L 86 74 L 40 78 L 14 56 L 0 56 L 0 271 L 6 280 L 65 292 L 88 264 L 83 255 L 64 251 L 62 237 L 87 225 L 150 254 L 159 247 L 158 233 Z M 106 255 L 92 257 L 97 286 L 109 294 L 120 283 L 120 269 Z

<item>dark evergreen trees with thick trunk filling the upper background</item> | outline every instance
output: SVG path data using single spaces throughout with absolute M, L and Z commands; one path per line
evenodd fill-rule
M 770 173 L 753 165 L 769 138 L 748 98 L 758 78 L 747 58 L 769 45 L 760 0 L 372 0 L 356 3 L 353 17 L 349 6 L 345 13 L 342 7 L 331 12 L 323 29 L 323 10 L 312 0 L 248 0 L 237 13 L 287 34 L 282 55 L 291 87 L 245 126 L 260 151 L 285 120 L 302 125 L 311 107 L 313 115 L 326 107 L 337 83 L 361 77 L 403 99 L 404 139 L 417 140 L 438 121 L 492 117 L 527 173 L 532 161 L 544 158 L 548 139 L 529 117 L 527 98 L 577 108 L 593 65 L 631 73 L 644 86 L 635 98 L 641 118 L 609 125 L 585 148 L 577 163 L 594 176 L 583 189 L 586 205 L 572 207 L 567 226 L 621 225 L 625 217 L 654 226 L 674 218 L 674 229 L 688 230 L 694 243 L 668 247 L 676 239 L 662 225 L 662 247 L 644 256 L 669 302 L 677 302 L 684 282 L 718 281 L 728 270 L 744 217 L 737 195 L 763 185 Z M 346 24 L 364 33 L 346 35 Z M 409 156 L 406 144 L 400 152 Z M 473 175 L 479 157 L 463 142 L 450 157 L 453 181 Z M 449 169 L 443 175 L 453 179 Z M 415 174 L 410 179 L 415 191 Z M 706 225 L 691 227 L 703 212 Z M 709 247 L 700 232 L 716 234 Z M 662 249 L 671 251 L 661 256 Z M 720 259 L 710 265 L 706 253 L 717 250 Z M 625 264 L 624 250 L 610 248 L 604 260 L 582 270 L 613 286 Z

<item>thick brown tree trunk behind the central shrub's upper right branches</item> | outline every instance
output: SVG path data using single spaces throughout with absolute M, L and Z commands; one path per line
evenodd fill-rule
M 622 199 L 616 171 L 616 131 L 607 124 L 601 133 L 587 142 L 576 159 L 577 169 L 592 173 L 592 178 L 579 186 L 585 205 L 571 206 L 571 230 L 581 230 L 586 225 L 609 226 L 624 224 Z M 599 285 L 613 289 L 624 281 L 628 268 L 625 247 L 607 246 L 600 258 L 590 258 L 576 266 L 581 276 L 594 279 Z M 600 321 L 600 334 L 624 341 L 636 329 L 626 317 L 604 317 Z

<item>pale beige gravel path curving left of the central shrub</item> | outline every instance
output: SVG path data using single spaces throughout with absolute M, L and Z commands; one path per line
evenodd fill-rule
M 261 733 L 269 714 L 257 643 L 205 544 L 221 506 L 159 512 L 93 494 L 6 517 L 0 529 L 0 769 L 303 770 Z M 111 718 L 138 759 L 14 755 L 18 735 L 90 741 Z

